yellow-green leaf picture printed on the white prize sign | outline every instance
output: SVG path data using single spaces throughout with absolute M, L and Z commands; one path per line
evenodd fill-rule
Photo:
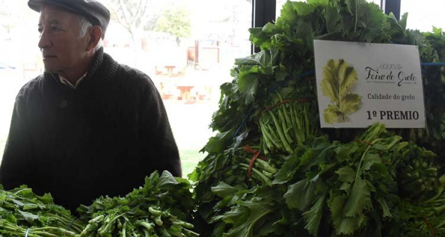
M 324 121 L 328 124 L 344 122 L 348 115 L 359 109 L 361 97 L 351 92 L 357 82 L 357 72 L 343 59 L 329 59 L 323 68 L 321 91 L 331 99 L 324 110 Z

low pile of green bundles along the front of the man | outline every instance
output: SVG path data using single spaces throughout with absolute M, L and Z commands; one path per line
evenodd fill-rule
M 197 237 L 190 183 L 156 171 L 125 197 L 99 197 L 77 214 L 26 186 L 0 190 L 0 237 Z

